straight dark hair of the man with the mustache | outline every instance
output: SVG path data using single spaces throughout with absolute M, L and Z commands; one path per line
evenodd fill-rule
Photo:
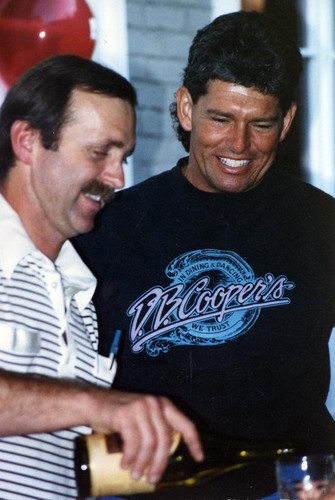
M 75 89 L 119 97 L 134 108 L 134 87 L 123 76 L 90 59 L 72 54 L 49 57 L 28 69 L 10 88 L 0 110 L 0 180 L 13 166 L 10 130 L 27 120 L 41 133 L 46 149 L 57 148 L 59 132 Z

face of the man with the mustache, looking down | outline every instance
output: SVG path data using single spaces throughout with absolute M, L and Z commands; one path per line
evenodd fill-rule
M 35 141 L 31 206 L 44 231 L 60 241 L 85 233 L 124 184 L 135 147 L 135 113 L 125 100 L 76 90 L 56 149 Z

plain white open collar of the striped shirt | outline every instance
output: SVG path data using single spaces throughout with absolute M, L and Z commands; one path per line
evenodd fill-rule
M 29 238 L 19 215 L 1 194 L 0 214 L 0 263 L 5 277 L 9 279 L 23 257 L 39 250 Z M 93 296 L 96 279 L 69 241 L 63 244 L 55 267 L 62 276 L 64 286 L 71 289 L 79 309 L 83 310 Z

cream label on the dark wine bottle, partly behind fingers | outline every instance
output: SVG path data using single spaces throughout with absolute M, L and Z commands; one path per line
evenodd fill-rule
M 135 481 L 128 470 L 121 468 L 121 448 L 117 447 L 116 451 L 115 446 L 111 446 L 111 439 L 112 436 L 100 433 L 86 436 L 92 496 L 131 495 L 155 491 L 156 486 L 149 483 L 145 476 Z M 179 440 L 180 436 L 174 434 L 171 452 L 178 446 Z

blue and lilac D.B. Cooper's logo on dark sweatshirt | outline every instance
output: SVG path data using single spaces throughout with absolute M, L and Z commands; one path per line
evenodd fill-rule
M 182 345 L 213 346 L 246 334 L 262 309 L 290 303 L 286 276 L 256 277 L 238 254 L 197 250 L 166 268 L 171 284 L 152 287 L 129 307 L 132 351 L 158 356 Z

